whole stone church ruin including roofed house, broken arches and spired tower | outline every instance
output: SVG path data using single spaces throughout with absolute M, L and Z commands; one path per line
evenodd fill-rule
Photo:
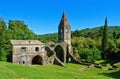
M 58 26 L 58 43 L 44 44 L 39 40 L 11 40 L 12 62 L 26 65 L 59 64 L 77 61 L 72 52 L 71 28 L 63 13 Z

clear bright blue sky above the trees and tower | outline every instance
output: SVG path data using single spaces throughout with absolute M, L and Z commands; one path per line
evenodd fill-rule
M 120 26 L 120 0 L 0 0 L 0 17 L 21 20 L 36 34 L 56 33 L 63 12 L 71 30 Z

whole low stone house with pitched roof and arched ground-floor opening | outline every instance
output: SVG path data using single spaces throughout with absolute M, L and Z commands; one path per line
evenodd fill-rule
M 45 45 L 38 40 L 11 40 L 12 62 L 17 64 L 47 64 Z M 38 61 L 39 60 L 39 61 Z

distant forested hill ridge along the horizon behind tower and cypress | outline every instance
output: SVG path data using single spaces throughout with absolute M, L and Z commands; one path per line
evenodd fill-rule
M 103 26 L 99 26 L 99 27 L 95 27 L 95 28 L 86 28 L 86 29 L 82 29 L 82 30 L 75 30 L 72 31 L 72 37 L 74 36 L 74 33 L 76 33 L 76 31 L 79 33 L 77 33 L 77 36 L 83 36 L 85 37 L 88 33 L 92 33 L 92 34 L 96 34 L 96 33 L 102 33 L 100 30 L 103 29 Z M 108 27 L 108 32 L 109 32 L 109 37 L 112 37 L 112 33 L 114 31 L 116 31 L 117 33 L 120 33 L 120 26 L 109 26 Z M 50 42 L 53 41 L 55 43 L 58 42 L 58 33 L 50 33 L 50 34 L 44 34 L 44 35 L 39 35 L 39 40 L 42 42 Z

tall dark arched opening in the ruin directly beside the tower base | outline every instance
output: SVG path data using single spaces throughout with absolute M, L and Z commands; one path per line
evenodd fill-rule
M 62 61 L 64 62 L 64 49 L 62 48 L 62 46 L 57 45 L 55 47 L 55 52 L 56 52 L 56 56 Z

